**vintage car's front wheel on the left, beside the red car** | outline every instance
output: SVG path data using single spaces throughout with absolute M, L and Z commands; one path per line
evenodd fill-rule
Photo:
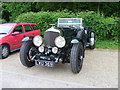
M 26 67 L 32 67 L 35 62 L 32 61 L 32 57 L 36 54 L 36 49 L 32 41 L 25 42 L 20 49 L 20 61 Z

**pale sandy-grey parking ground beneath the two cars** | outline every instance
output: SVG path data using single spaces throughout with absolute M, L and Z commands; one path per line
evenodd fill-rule
M 84 65 L 73 74 L 70 64 L 24 67 L 19 52 L 0 60 L 2 88 L 118 88 L 118 50 L 86 50 Z

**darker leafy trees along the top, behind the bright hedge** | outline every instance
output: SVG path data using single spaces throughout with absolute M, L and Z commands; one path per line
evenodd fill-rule
M 74 13 L 81 11 L 95 11 L 105 16 L 118 16 L 117 2 L 4 2 L 2 3 L 3 19 L 13 21 L 18 15 L 26 12 L 62 11 L 67 9 Z

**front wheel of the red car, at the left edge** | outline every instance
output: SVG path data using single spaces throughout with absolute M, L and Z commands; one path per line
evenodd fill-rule
M 9 56 L 10 48 L 8 45 L 0 45 L 0 59 L 5 59 Z

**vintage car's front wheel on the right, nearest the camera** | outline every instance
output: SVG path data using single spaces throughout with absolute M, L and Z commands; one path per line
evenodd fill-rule
M 73 73 L 79 73 L 83 65 L 83 44 L 73 44 L 70 55 L 70 64 Z

